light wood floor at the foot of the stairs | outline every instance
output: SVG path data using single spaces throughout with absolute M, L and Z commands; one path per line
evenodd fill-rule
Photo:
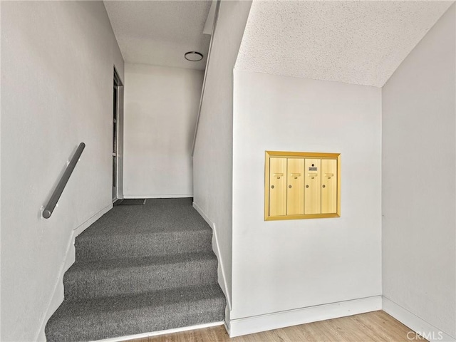
M 229 338 L 224 326 L 170 333 L 129 342 L 410 342 L 427 341 L 384 311 L 290 326 Z

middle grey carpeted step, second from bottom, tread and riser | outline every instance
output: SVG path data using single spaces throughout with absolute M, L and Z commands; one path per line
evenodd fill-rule
M 211 252 L 96 261 L 77 261 L 63 276 L 66 299 L 138 294 L 217 284 Z

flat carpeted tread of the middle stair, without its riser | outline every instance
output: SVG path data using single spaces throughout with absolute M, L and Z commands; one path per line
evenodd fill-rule
M 185 262 L 196 262 L 203 260 L 216 260 L 212 250 L 204 252 L 193 252 L 185 254 L 166 254 L 152 257 L 134 257 L 118 259 L 100 259 L 76 261 L 67 271 L 71 274 L 78 271 L 106 270 L 106 269 L 125 269 L 130 267 L 142 267 L 165 264 L 179 264 Z

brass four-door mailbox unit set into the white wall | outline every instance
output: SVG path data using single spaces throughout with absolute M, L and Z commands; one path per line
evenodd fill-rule
M 265 221 L 340 216 L 340 153 L 265 152 Z

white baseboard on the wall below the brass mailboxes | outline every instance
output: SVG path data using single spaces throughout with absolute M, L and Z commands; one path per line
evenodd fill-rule
M 286 326 L 324 321 L 382 309 L 382 297 L 353 299 L 337 303 L 309 306 L 307 308 L 279 311 L 271 314 L 237 318 L 229 321 L 229 337 L 259 333 Z

